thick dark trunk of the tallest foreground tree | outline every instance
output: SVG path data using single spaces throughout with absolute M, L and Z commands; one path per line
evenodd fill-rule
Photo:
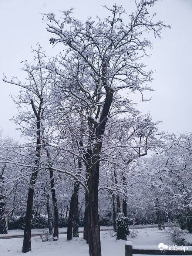
M 88 224 L 89 224 L 89 254 L 90 256 L 101 256 L 101 242 L 100 242 L 100 220 L 98 213 L 98 184 L 99 184 L 99 170 L 100 170 L 100 154 L 102 148 L 102 137 L 105 132 L 105 125 L 107 123 L 108 113 L 111 107 L 113 91 L 108 87 L 107 79 L 107 67 L 108 60 L 106 60 L 102 66 L 103 78 L 102 82 L 106 90 L 106 98 L 102 113 L 100 116 L 100 121 L 95 129 L 95 137 L 97 141 L 95 142 L 94 149 L 91 154 L 91 165 L 87 168 L 87 173 L 89 174 L 88 179 Z M 91 131 L 91 137 L 92 137 Z M 90 161 L 89 161 L 90 162 Z

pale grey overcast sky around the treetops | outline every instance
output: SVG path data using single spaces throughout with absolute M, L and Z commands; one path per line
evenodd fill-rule
M 86 17 L 103 17 L 105 6 L 122 4 L 129 15 L 133 11 L 133 1 L 129 0 L 0 0 L 1 39 L 0 39 L 0 128 L 3 135 L 18 139 L 15 124 L 9 121 L 17 110 L 9 97 L 17 95 L 18 88 L 2 81 L 15 75 L 24 80 L 21 61 L 33 59 L 31 46 L 39 42 L 48 56 L 58 53 L 49 44 L 51 34 L 46 31 L 46 23 L 40 13 L 53 12 L 59 17 L 59 10 L 75 8 L 74 16 L 81 20 Z M 139 103 L 138 109 L 144 114 L 150 111 L 154 121 L 162 120 L 160 131 L 192 131 L 192 0 L 162 0 L 153 8 L 157 17 L 171 30 L 162 31 L 161 40 L 155 40 L 151 57 L 144 60 L 150 69 L 156 70 L 151 86 L 155 90 L 146 97 L 151 102 Z M 108 15 L 108 13 L 106 14 Z M 139 98 L 138 98 L 139 100 Z

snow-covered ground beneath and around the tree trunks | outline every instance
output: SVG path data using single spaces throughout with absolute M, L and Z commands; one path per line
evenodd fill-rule
M 101 231 L 101 247 L 102 256 L 124 256 L 125 255 L 125 241 L 116 241 L 115 233 L 110 230 Z M 106 227 L 102 227 L 106 229 Z M 80 228 L 82 230 L 82 228 Z M 130 229 L 132 232 L 132 229 Z M 66 228 L 61 228 L 60 232 L 67 231 Z M 43 233 L 44 230 L 32 230 L 32 234 Z M 127 240 L 132 241 L 133 245 L 156 245 L 164 243 L 166 245 L 173 245 L 170 238 L 166 236 L 164 231 L 158 228 L 136 229 L 137 236 L 135 238 L 129 237 Z M 22 235 L 23 230 L 11 230 L 11 235 Z M 0 235 L 1 237 L 3 235 Z M 7 236 L 7 235 L 6 235 Z M 83 233 L 80 233 L 80 238 L 74 238 L 67 241 L 66 234 L 60 234 L 58 241 L 42 242 L 40 236 L 31 238 L 32 250 L 26 255 L 31 256 L 88 256 L 88 245 L 82 238 Z M 0 256 L 21 256 L 23 245 L 23 238 L 0 239 Z

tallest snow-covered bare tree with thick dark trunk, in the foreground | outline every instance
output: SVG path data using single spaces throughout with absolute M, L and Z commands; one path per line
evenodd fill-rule
M 71 16 L 72 10 L 63 11 L 60 20 L 53 13 L 47 14 L 48 31 L 54 36 L 50 43 L 63 44 L 66 53 L 49 67 L 55 74 L 55 91 L 73 99 L 74 110 L 79 106 L 84 108 L 89 129 L 87 143 L 83 148 L 79 145 L 79 151 L 86 166 L 88 185 L 90 256 L 101 256 L 98 183 L 108 118 L 130 109 L 130 101 L 119 95 L 119 90 L 127 88 L 141 94 L 151 90 L 148 83 L 152 71 L 145 70 L 141 58 L 152 47 L 146 34 L 152 31 L 160 37 L 165 27 L 161 21 L 153 22 L 155 15 L 150 17 L 147 11 L 155 2 L 135 1 L 136 10 L 128 16 L 127 23 L 122 19 L 125 11 L 116 5 L 112 9 L 106 7 L 111 13 L 108 18 L 97 17 L 96 22 L 89 18 L 85 24 Z

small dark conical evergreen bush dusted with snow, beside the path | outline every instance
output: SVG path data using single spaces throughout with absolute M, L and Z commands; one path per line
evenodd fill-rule
M 124 213 L 118 212 L 116 217 L 116 225 L 117 225 L 117 240 L 123 239 L 127 240 L 127 236 L 129 235 L 129 219 L 125 217 Z

